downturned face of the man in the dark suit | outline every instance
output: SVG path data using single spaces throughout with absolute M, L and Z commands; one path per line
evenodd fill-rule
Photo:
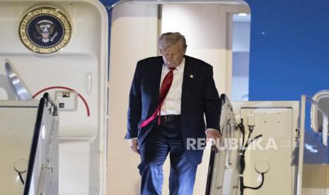
M 175 45 L 166 47 L 166 49 L 160 49 L 163 61 L 168 67 L 179 66 L 184 57 L 185 51 L 186 50 L 183 48 L 183 45 L 180 42 Z

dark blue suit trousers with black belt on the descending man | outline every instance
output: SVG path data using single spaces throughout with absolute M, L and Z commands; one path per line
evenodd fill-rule
M 142 176 L 142 195 L 162 193 L 163 162 L 170 153 L 171 172 L 169 191 L 171 195 L 192 195 L 197 166 L 187 158 L 180 131 L 180 120 L 162 122 L 146 136 L 140 146 L 141 163 L 139 173 Z

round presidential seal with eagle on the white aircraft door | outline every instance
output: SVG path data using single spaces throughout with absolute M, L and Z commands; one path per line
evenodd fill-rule
M 70 40 L 71 24 L 58 8 L 40 6 L 25 14 L 19 36 L 28 49 L 39 54 L 57 52 Z

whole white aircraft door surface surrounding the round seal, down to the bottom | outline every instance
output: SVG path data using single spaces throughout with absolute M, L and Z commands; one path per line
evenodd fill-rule
M 54 54 L 35 54 L 18 36 L 23 14 L 40 5 L 60 8 L 71 19 L 71 40 Z M 98 0 L 0 0 L 1 79 L 4 59 L 11 60 L 34 95 L 49 87 L 71 88 L 80 94 L 76 111 L 59 114 L 59 194 L 105 194 L 108 15 L 103 5 Z M 63 89 L 47 90 L 52 99 L 56 90 Z M 0 95 L 10 96 L 4 90 Z

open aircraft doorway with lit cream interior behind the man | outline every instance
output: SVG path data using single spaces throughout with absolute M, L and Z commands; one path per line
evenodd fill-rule
M 139 194 L 139 156 L 132 153 L 123 139 L 129 88 L 137 61 L 159 55 L 157 39 L 162 32 L 181 32 L 187 39 L 186 54 L 211 64 L 219 93 L 231 96 L 233 13 L 250 13 L 250 8 L 244 1 L 124 4 L 119 1 L 114 6 L 110 37 L 108 194 Z M 205 151 L 198 167 L 194 194 L 204 194 L 209 153 Z M 163 194 L 168 194 L 168 162 L 163 170 Z

